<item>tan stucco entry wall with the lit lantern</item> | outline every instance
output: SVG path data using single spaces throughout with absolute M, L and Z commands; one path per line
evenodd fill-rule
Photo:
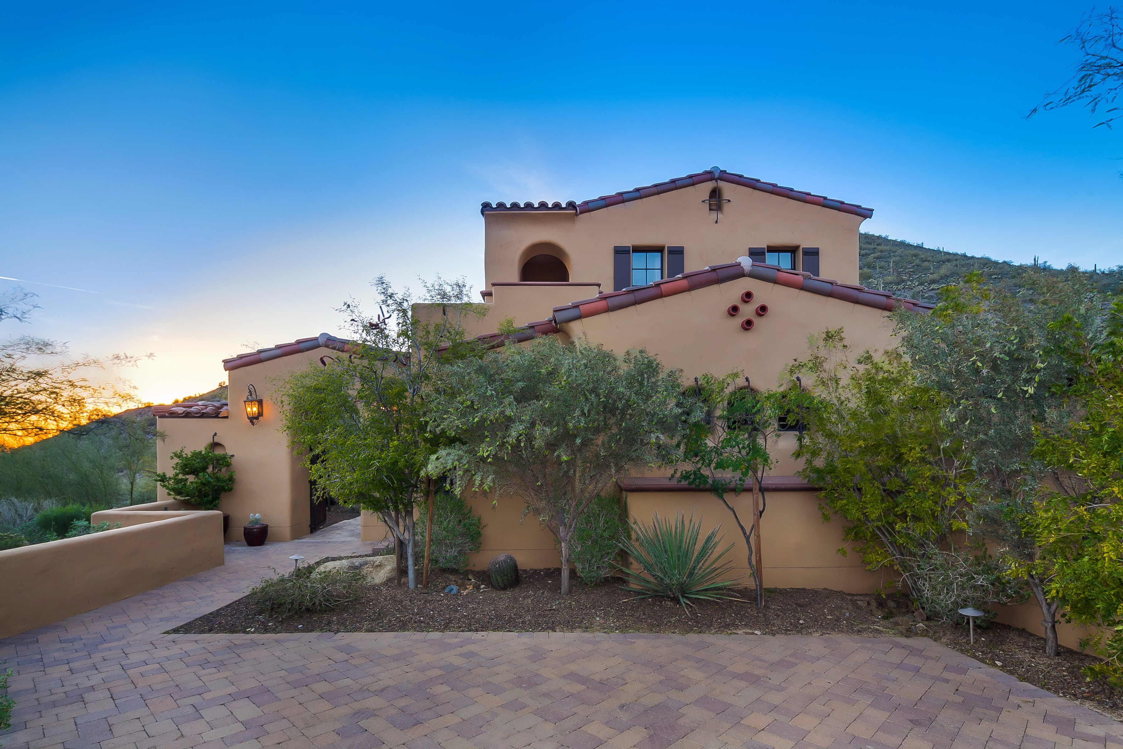
M 281 431 L 281 414 L 273 394 L 281 381 L 292 372 L 318 362 L 321 356 L 336 356 L 326 348 L 294 354 L 263 362 L 228 373 L 230 384 L 230 415 L 226 419 L 161 418 L 158 427 L 166 438 L 157 442 L 156 466 L 170 473 L 171 454 L 180 447 L 199 449 L 209 444 L 212 432 L 227 453 L 234 455 L 234 491 L 223 495 L 220 510 L 230 513 L 228 541 L 243 540 L 241 527 L 249 513 L 262 513 L 262 521 L 270 526 L 271 541 L 289 541 L 308 535 L 309 484 L 308 469 L 289 449 Z M 247 385 L 253 383 L 265 401 L 264 417 L 252 426 L 241 404 Z M 157 500 L 167 499 L 159 490 Z

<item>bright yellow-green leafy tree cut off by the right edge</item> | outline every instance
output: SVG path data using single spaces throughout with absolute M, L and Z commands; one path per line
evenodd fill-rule
M 1123 686 L 1123 296 L 1105 317 L 1103 335 L 1071 314 L 1050 325 L 1071 418 L 1035 430 L 1035 457 L 1057 471 L 1028 522 L 1041 554 L 1020 569 L 1048 581 L 1069 621 L 1108 628 L 1087 643 L 1104 661 L 1085 673 Z

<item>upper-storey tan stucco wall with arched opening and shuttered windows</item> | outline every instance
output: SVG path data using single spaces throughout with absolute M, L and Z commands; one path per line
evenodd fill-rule
M 819 247 L 820 276 L 858 283 L 860 217 L 722 182 L 722 194 L 732 202 L 725 203 L 714 223 L 713 213 L 702 203 L 712 188 L 707 182 L 583 216 L 572 211 L 484 213 L 487 287 L 496 281 L 519 281 L 527 249 L 539 243 L 564 250 L 570 281 L 600 281 L 604 291 L 612 291 L 615 245 L 681 245 L 687 271 L 732 262 L 749 247 Z

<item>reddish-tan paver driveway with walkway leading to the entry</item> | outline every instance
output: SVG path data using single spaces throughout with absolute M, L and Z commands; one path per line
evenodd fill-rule
M 357 521 L 0 641 L 6 747 L 1123 749 L 1123 724 L 926 639 L 161 634 Z

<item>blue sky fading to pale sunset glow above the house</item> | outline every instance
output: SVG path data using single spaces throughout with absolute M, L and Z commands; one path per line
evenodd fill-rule
M 0 276 L 86 290 L 25 283 L 0 335 L 153 353 L 126 374 L 167 401 L 380 273 L 478 289 L 481 201 L 713 165 L 928 246 L 1123 263 L 1123 133 L 1024 119 L 1086 3 L 232 6 L 0 6 Z

